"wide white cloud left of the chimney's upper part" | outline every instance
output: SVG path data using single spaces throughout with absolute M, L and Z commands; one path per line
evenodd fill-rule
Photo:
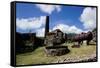
M 45 16 L 40 17 L 33 17 L 33 18 L 27 18 L 27 19 L 16 19 L 16 27 L 21 30 L 31 30 L 31 29 L 37 29 L 40 28 L 45 24 Z

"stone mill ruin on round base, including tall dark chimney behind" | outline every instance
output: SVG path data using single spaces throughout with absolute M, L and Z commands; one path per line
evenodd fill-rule
M 51 56 L 60 56 L 69 52 L 67 46 L 63 46 L 67 38 L 67 34 L 63 33 L 60 29 L 49 32 L 49 16 L 46 17 L 45 25 L 45 52 Z

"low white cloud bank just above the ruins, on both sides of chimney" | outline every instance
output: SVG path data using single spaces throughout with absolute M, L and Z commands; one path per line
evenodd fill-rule
M 66 24 L 57 24 L 56 26 L 54 26 L 52 29 L 49 29 L 49 31 L 53 31 L 55 29 L 60 29 L 62 32 L 64 33 L 81 33 L 81 32 L 87 32 L 87 31 L 83 31 L 82 29 L 77 28 L 76 26 L 69 26 Z M 44 37 L 44 33 L 45 33 L 45 28 L 39 28 L 36 29 L 36 35 L 38 37 Z

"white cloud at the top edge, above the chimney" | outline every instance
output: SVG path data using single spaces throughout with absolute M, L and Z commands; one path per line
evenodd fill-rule
M 42 5 L 42 4 L 36 4 L 36 6 L 45 13 L 51 14 L 54 10 L 57 10 L 57 12 L 61 11 L 61 6 L 59 5 Z

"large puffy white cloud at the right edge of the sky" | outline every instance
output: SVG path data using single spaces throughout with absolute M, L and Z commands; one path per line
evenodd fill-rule
M 80 16 L 80 21 L 85 29 L 93 30 L 96 27 L 96 8 L 85 8 Z

